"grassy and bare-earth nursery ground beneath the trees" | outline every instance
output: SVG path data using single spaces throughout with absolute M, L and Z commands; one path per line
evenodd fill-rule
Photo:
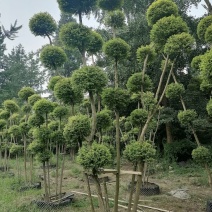
M 74 193 L 74 201 L 70 205 L 60 207 L 58 209 L 37 208 L 32 203 L 33 200 L 39 199 L 44 193 L 43 181 L 42 181 L 42 169 L 40 164 L 35 164 L 34 180 L 41 181 L 41 189 L 31 189 L 20 191 L 20 186 L 24 184 L 22 182 L 22 172 L 16 172 L 15 160 L 10 161 L 10 169 L 8 173 L 0 172 L 0 205 L 1 212 L 37 212 L 37 211 L 77 211 L 77 212 L 89 212 L 90 203 L 86 195 L 80 194 L 87 193 L 87 184 L 83 175 L 83 170 L 76 162 L 69 161 L 67 163 L 64 172 L 63 191 L 67 193 Z M 22 169 L 23 167 L 20 166 Z M 132 167 L 125 161 L 122 161 L 122 170 L 132 170 Z M 12 176 L 12 174 L 14 176 Z M 113 199 L 115 191 L 115 176 L 113 174 L 107 174 L 109 181 L 107 182 L 108 196 Z M 102 177 L 100 175 L 100 177 Z M 55 169 L 50 170 L 51 185 L 54 186 Z M 120 180 L 120 205 L 126 206 L 129 196 L 129 182 L 131 181 L 131 175 L 121 175 Z M 164 163 L 157 163 L 150 167 L 148 181 L 155 183 L 160 188 L 159 195 L 144 196 L 140 195 L 139 209 L 138 211 L 174 211 L 174 212 L 201 212 L 206 211 L 206 202 L 212 198 L 212 190 L 207 184 L 207 175 L 205 171 L 193 164 L 182 163 L 172 164 L 167 166 Z M 95 186 L 92 181 L 91 193 L 96 194 Z M 184 199 L 174 197 L 170 194 L 170 191 L 181 189 L 186 192 Z M 53 193 L 54 191 L 51 190 Z M 79 193 L 77 193 L 79 192 Z M 97 198 L 94 197 L 95 211 L 100 212 L 98 209 Z M 113 201 L 110 202 L 112 211 Z M 151 207 L 151 208 L 148 208 Z M 120 207 L 119 211 L 126 211 L 124 207 Z

